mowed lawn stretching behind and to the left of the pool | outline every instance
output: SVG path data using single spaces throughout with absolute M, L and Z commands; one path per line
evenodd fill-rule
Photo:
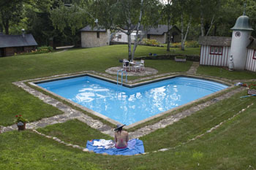
M 176 50 L 176 53 L 182 53 Z M 186 53 L 199 53 L 188 48 Z M 139 46 L 137 56 L 148 53 L 165 54 L 166 48 Z M 112 66 L 121 66 L 119 59 L 127 58 L 127 45 L 113 45 L 89 49 L 68 50 L 64 53 L 18 55 L 0 58 L 0 125 L 12 125 L 15 115 L 23 115 L 29 121 L 59 115 L 59 109 L 44 104 L 12 82 L 49 77 L 56 74 L 93 70 L 105 72 Z M 186 72 L 192 62 L 176 63 L 170 60 L 146 61 L 146 66 L 166 72 Z

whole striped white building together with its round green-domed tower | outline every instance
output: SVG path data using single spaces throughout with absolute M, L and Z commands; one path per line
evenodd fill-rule
M 230 66 L 233 57 L 233 69 L 256 72 L 256 39 L 249 25 L 249 17 L 241 15 L 233 30 L 232 38 L 222 36 L 200 36 L 200 65 Z

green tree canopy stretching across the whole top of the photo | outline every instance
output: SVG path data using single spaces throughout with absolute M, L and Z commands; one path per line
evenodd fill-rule
M 67 44 L 77 43 L 80 28 L 88 25 L 129 36 L 138 26 L 161 23 L 178 26 L 184 43 L 198 36 L 231 36 L 230 28 L 244 9 L 256 30 L 255 0 L 169 0 L 167 4 L 162 0 L 1 0 L 0 32 L 20 34 L 25 28 L 39 45 L 48 45 L 49 39 Z M 131 47 L 129 58 L 134 55 Z

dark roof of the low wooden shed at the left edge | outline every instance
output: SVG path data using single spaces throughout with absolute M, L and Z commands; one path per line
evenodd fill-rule
M 22 35 L 0 35 L 0 47 L 25 47 L 37 46 L 32 34 Z

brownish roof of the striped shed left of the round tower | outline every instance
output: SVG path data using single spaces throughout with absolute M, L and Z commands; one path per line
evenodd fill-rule
M 200 45 L 215 45 L 215 46 L 230 46 L 231 37 L 225 36 L 199 36 L 198 44 Z

